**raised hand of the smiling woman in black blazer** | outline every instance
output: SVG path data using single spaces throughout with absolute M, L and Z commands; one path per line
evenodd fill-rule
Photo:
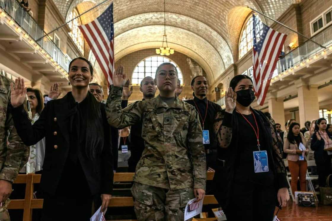
M 24 79 L 18 78 L 15 80 L 15 88 L 14 84 L 10 84 L 11 89 L 11 103 L 14 108 L 17 108 L 23 105 L 25 99 L 27 98 L 27 88 L 24 86 Z

